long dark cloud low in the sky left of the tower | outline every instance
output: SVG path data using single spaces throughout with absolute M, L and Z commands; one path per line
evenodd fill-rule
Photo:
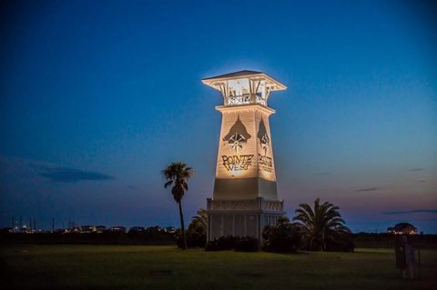
M 111 175 L 69 167 L 50 167 L 46 165 L 32 165 L 32 167 L 36 169 L 38 175 L 54 182 L 105 181 L 115 178 Z

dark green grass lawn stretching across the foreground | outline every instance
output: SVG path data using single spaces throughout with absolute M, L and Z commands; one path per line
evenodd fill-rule
M 401 280 L 392 249 L 280 255 L 147 245 L 9 245 L 2 246 L 1 258 L 7 289 L 437 289 L 437 250 L 422 250 L 422 279 L 416 281 Z

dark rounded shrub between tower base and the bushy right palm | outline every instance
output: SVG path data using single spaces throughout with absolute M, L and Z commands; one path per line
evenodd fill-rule
M 262 232 L 263 249 L 269 252 L 296 252 L 300 246 L 300 227 L 280 217 L 276 225 L 266 226 Z

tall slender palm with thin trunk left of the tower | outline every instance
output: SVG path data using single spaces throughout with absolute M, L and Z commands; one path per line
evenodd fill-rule
M 183 249 L 187 248 L 187 237 L 185 235 L 184 214 L 182 212 L 182 197 L 184 196 L 185 191 L 188 190 L 188 179 L 193 174 L 193 168 L 188 167 L 188 165 L 183 162 L 172 162 L 162 171 L 162 175 L 167 181 L 164 184 L 164 187 L 167 188 L 168 186 L 173 185 L 171 188 L 171 194 L 178 203 Z

